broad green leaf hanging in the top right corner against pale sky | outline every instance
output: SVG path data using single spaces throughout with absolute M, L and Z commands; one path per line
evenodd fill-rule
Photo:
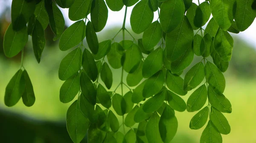
M 246 30 L 255 19 L 252 9 L 253 0 L 236 0 L 236 14 L 234 16 L 239 31 Z

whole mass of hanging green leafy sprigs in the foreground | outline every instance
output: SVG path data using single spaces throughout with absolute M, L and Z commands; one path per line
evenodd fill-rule
M 125 27 L 130 6 L 134 6 L 131 29 L 143 33 L 139 39 Z M 65 30 L 59 7 L 68 8 L 69 19 L 76 21 Z M 116 33 L 122 31 L 122 41 L 115 41 L 116 35 L 99 41 L 96 33 L 105 28 L 108 9 L 120 11 L 123 7 L 124 22 Z M 156 21 L 154 12 L 158 13 Z M 49 24 L 59 49 L 70 51 L 61 60 L 58 77 L 64 81 L 60 101 L 69 103 L 77 97 L 67 110 L 67 131 L 74 143 L 81 142 L 86 134 L 88 143 L 169 143 L 178 128 L 175 112 L 185 110 L 197 112 L 189 123 L 191 129 L 201 129 L 208 122 L 201 143 L 221 143 L 221 134 L 230 133 L 223 113 L 232 112 L 223 94 L 223 72 L 233 50 L 230 32 L 244 31 L 255 17 L 253 0 L 198 4 L 192 0 L 13 0 L 12 23 L 3 49 L 6 57 L 20 51 L 23 55 L 30 35 L 40 63 L 46 43 L 44 30 Z M 126 40 L 125 32 L 133 40 Z M 202 60 L 182 78 L 194 55 Z M 21 97 L 26 106 L 35 102 L 22 62 L 6 86 L 6 106 L 14 106 Z M 122 69 L 116 87 L 114 69 Z M 124 93 L 124 87 L 129 91 Z M 185 102 L 181 96 L 193 89 Z M 130 129 L 125 131 L 125 126 Z

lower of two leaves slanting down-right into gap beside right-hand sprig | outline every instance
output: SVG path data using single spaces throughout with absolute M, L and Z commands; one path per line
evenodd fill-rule
M 183 112 L 186 110 L 185 101 L 177 94 L 167 90 L 166 97 L 168 97 L 168 103 L 169 106 L 172 107 L 172 109 L 175 109 L 178 112 Z

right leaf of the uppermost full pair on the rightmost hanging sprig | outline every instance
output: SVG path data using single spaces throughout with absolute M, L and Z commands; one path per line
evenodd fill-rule
M 205 64 L 206 80 L 209 86 L 217 94 L 222 94 L 225 89 L 226 81 L 221 71 L 211 62 Z

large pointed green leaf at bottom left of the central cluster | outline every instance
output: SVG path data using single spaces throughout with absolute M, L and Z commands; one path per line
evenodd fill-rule
M 80 143 L 88 128 L 89 120 L 82 114 L 76 100 L 67 109 L 67 132 L 74 143 Z

